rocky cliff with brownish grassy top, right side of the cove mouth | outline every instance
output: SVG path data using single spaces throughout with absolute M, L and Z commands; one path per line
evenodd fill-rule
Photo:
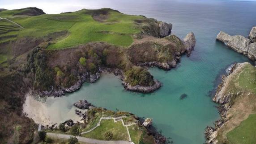
M 256 67 L 248 62 L 235 64 L 229 75 L 222 76 L 222 82 L 213 97 L 214 102 L 222 104 L 218 106 L 221 119 L 214 123 L 215 127 L 205 129 L 207 144 L 230 143 L 228 133 L 237 128 L 248 115 L 256 112 L 255 89 Z M 250 139 L 250 133 L 248 130 L 243 136 Z

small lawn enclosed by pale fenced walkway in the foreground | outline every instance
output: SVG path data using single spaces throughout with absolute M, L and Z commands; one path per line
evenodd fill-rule
M 126 128 L 121 121 L 115 122 L 113 119 L 103 119 L 100 126 L 92 132 L 83 134 L 82 136 L 97 140 L 104 140 L 105 132 L 113 132 L 112 140 L 129 140 Z

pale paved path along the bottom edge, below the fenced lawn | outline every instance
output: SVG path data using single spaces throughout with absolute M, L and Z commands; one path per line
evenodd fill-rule
M 69 139 L 71 135 L 47 132 L 47 136 L 61 138 L 61 139 Z M 95 140 L 95 139 L 85 138 L 81 136 L 77 136 L 77 139 L 80 142 L 91 143 L 91 144 L 133 144 L 132 142 L 124 141 L 124 140 L 105 141 L 105 140 Z

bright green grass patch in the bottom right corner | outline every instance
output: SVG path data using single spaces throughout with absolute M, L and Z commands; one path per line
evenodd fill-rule
M 249 115 L 239 127 L 227 133 L 230 144 L 255 144 L 256 114 Z

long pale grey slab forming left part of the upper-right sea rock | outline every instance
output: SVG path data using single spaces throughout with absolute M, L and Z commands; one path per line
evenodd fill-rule
M 238 53 L 247 55 L 250 47 L 250 40 L 241 35 L 230 36 L 227 33 L 220 32 L 217 36 L 217 40 L 224 42 L 231 49 L 234 49 Z

